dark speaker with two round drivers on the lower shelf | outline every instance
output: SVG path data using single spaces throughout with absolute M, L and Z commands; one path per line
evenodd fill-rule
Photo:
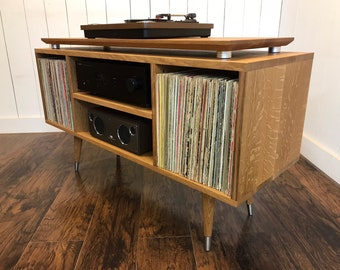
M 93 137 L 141 155 L 152 150 L 151 120 L 97 107 L 88 112 Z

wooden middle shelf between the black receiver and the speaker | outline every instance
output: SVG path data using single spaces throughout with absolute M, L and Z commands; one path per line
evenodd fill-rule
M 152 119 L 152 110 L 151 109 L 145 109 L 138 106 L 133 106 L 130 104 L 122 103 L 113 101 L 111 99 L 98 97 L 91 95 L 87 92 L 76 92 L 73 93 L 73 98 L 81 101 L 85 101 L 91 104 L 96 104 L 99 106 L 115 109 L 118 111 L 134 114 L 137 116 L 141 116 L 144 118 Z

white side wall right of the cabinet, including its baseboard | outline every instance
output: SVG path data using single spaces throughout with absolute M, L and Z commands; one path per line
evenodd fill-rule
M 340 1 L 284 0 L 286 50 L 314 52 L 301 153 L 340 184 Z

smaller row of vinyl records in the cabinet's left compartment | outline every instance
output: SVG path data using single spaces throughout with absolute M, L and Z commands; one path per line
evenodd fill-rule
M 64 59 L 38 59 L 42 74 L 46 117 L 65 128 L 73 130 L 70 88 Z

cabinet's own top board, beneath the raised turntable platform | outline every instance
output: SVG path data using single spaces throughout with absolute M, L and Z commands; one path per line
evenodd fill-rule
M 130 61 L 139 63 L 159 64 L 173 67 L 211 68 L 217 70 L 251 71 L 267 68 L 294 61 L 305 61 L 313 58 L 312 53 L 281 52 L 268 54 L 264 51 L 241 51 L 233 53 L 231 59 L 217 59 L 216 54 L 190 54 L 188 52 L 179 54 L 177 51 L 148 51 L 148 50 L 117 50 L 93 48 L 75 49 L 35 49 L 38 55 L 58 55 L 72 57 L 97 58 L 119 61 Z M 176 53 L 177 52 L 177 53 Z M 149 54 L 148 54 L 149 53 Z M 74 60 L 72 60 L 74 61 Z M 168 67 L 169 68 L 169 67 Z M 72 84 L 71 84 L 72 85 Z

